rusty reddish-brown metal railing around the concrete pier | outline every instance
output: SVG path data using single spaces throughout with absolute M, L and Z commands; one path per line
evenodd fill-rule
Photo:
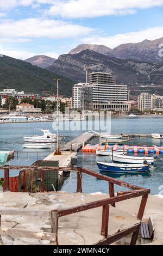
M 66 167 L 38 167 L 38 166 L 4 166 L 2 167 L 4 169 L 5 178 L 4 178 L 4 184 L 8 185 L 9 182 L 9 169 L 30 169 L 30 170 L 41 170 L 41 192 L 43 192 L 44 187 L 44 172 L 45 170 L 62 170 L 62 171 L 69 171 L 69 172 L 77 172 L 77 192 L 82 193 L 82 174 L 85 173 L 87 175 L 94 176 L 95 178 L 104 180 L 108 182 L 108 188 L 109 188 L 109 198 L 105 198 L 102 200 L 98 200 L 91 203 L 86 203 L 78 206 L 73 206 L 71 208 L 66 209 L 60 209 L 60 210 L 53 210 L 51 213 L 51 220 L 52 220 L 52 233 L 56 234 L 56 242 L 59 244 L 58 241 L 58 222 L 59 218 L 66 215 L 75 214 L 77 212 L 82 212 L 90 209 L 95 209 L 102 207 L 102 227 L 101 227 L 101 235 L 105 237 L 103 241 L 101 241 L 99 244 L 101 245 L 109 245 L 110 243 L 117 241 L 121 239 L 122 237 L 133 233 L 131 238 L 131 245 L 136 244 L 137 236 L 139 234 L 139 229 L 141 223 L 136 223 L 133 227 L 130 227 L 125 230 L 121 230 L 120 232 L 108 236 L 108 222 L 109 222 L 109 209 L 111 206 L 116 206 L 116 203 L 122 202 L 123 200 L 128 200 L 131 198 L 136 198 L 142 196 L 140 207 L 137 213 L 137 219 L 142 220 L 143 213 L 145 211 L 148 194 L 150 193 L 150 190 L 147 188 L 143 188 L 140 186 L 131 185 L 127 182 L 114 179 L 111 177 L 108 177 L 103 174 L 99 174 L 96 172 L 93 172 L 92 170 L 86 169 L 86 168 L 66 168 Z M 7 179 L 7 180 L 6 180 Z M 118 186 L 122 186 L 125 188 L 128 188 L 127 191 L 119 191 L 117 192 L 117 195 L 115 195 L 114 191 L 114 184 Z M 7 187 L 5 185 L 5 187 Z M 9 187 L 9 186 L 8 186 Z

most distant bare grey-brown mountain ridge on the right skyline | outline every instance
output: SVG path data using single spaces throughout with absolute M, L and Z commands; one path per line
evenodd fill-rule
M 122 44 L 114 49 L 104 45 L 82 44 L 71 50 L 69 54 L 76 54 L 88 49 L 120 59 L 136 59 L 143 62 L 163 62 L 163 51 L 162 56 L 159 54 L 161 53 L 161 46 L 163 46 L 161 44 L 163 44 L 163 37 L 153 41 L 144 40 L 136 44 Z

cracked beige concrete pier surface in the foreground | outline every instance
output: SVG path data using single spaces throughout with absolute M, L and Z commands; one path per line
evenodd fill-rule
M 108 198 L 108 194 L 102 193 L 12 193 L 4 192 L 1 198 L 1 227 L 15 229 L 32 230 L 42 233 L 50 231 L 51 223 L 48 212 L 54 209 L 65 209 L 95 200 Z M 136 219 L 137 209 L 141 198 L 133 198 L 119 202 L 116 208 L 110 206 L 108 235 L 128 228 L 134 223 L 139 223 Z M 26 209 L 25 209 L 26 208 Z M 43 216 L 12 216 L 2 215 L 1 210 L 22 209 L 47 211 Z M 143 220 L 152 219 L 154 228 L 154 240 L 148 241 L 149 245 L 163 245 L 163 198 L 149 196 Z M 104 237 L 101 235 L 102 208 L 91 209 L 72 215 L 59 218 L 59 245 L 95 245 Z M 125 237 L 124 242 L 129 244 L 130 235 Z M 47 241 L 38 239 L 27 239 L 15 236 L 2 236 L 4 245 L 42 245 Z M 117 242 L 120 244 L 120 242 Z M 137 244 L 143 244 L 141 237 Z

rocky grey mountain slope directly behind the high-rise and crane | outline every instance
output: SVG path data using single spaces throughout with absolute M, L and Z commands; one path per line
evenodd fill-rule
M 84 50 L 77 54 L 63 54 L 48 69 L 73 81 L 85 82 L 84 68 L 89 66 L 92 66 L 90 72 L 110 72 L 118 84 L 124 83 L 134 88 L 135 85 L 163 85 L 163 63 L 161 62 L 119 59 L 92 50 Z

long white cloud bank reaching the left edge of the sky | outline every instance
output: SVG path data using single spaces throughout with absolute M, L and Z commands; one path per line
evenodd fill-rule
M 24 19 L 3 20 L 0 22 L 0 34 L 3 38 L 73 38 L 94 31 L 90 27 L 74 25 L 60 20 Z

